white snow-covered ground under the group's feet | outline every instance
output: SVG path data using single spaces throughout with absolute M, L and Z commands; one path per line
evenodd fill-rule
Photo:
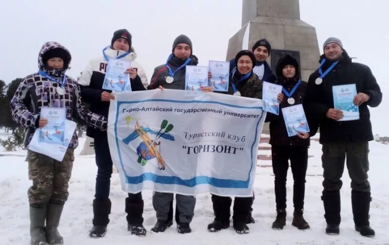
M 1 135 L 3 136 L 3 135 Z M 85 138 L 81 139 L 81 151 Z M 371 226 L 376 231 L 375 238 L 365 238 L 354 230 L 351 211 L 350 179 L 347 170 L 343 177 L 342 223 L 339 236 L 328 236 L 324 232 L 325 220 L 321 196 L 321 147 L 313 141 L 309 155 L 307 183 L 305 192 L 304 216 L 311 225 L 310 230 L 301 231 L 291 226 L 292 176 L 289 170 L 287 195 L 287 225 L 283 230 L 271 229 L 275 219 L 275 201 L 273 176 L 271 167 L 257 167 L 255 182 L 255 201 L 253 216 L 255 224 L 249 225 L 250 233 L 239 235 L 232 227 L 217 233 L 207 231 L 207 225 L 213 220 L 212 202 L 210 195 L 197 196 L 195 217 L 191 223 L 193 232 L 178 234 L 175 225 L 164 233 L 153 233 L 150 229 L 156 222 L 155 212 L 151 202 L 151 191 L 144 191 L 144 226 L 146 237 L 131 236 L 127 231 L 124 198 L 126 194 L 120 187 L 119 176 L 114 174 L 111 180 L 112 212 L 108 231 L 102 239 L 90 239 L 88 230 L 92 223 L 92 199 L 96 166 L 94 156 L 77 156 L 74 162 L 70 181 L 70 196 L 65 205 L 60 224 L 60 232 L 66 245 L 128 245 L 128 244 L 169 244 L 169 245 L 389 245 L 388 224 L 389 215 L 389 178 L 388 150 L 389 146 L 377 142 L 370 143 L 370 182 L 373 201 L 371 202 Z M 27 189 L 30 181 L 27 176 L 26 151 L 0 152 L 0 245 L 29 244 L 29 212 Z M 270 161 L 262 161 L 262 165 L 271 165 Z M 258 163 L 260 165 L 260 163 Z M 231 222 L 232 225 L 232 222 Z

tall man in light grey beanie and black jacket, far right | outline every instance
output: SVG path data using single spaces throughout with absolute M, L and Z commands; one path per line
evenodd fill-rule
M 382 93 L 370 68 L 352 62 L 342 42 L 328 38 L 318 70 L 308 81 L 304 103 L 320 127 L 323 145 L 323 195 L 326 233 L 339 234 L 340 188 L 344 162 L 351 178 L 355 230 L 372 237 L 370 227 L 369 141 L 373 140 L 368 105 L 381 103 Z

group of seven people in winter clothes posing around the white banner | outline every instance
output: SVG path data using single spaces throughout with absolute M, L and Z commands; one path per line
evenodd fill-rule
M 109 223 L 111 201 L 109 199 L 112 159 L 107 141 L 107 116 L 109 103 L 114 99 L 112 91 L 102 89 L 109 59 L 131 61 L 125 73 L 129 74 L 132 91 L 146 89 L 185 88 L 185 65 L 197 65 L 191 40 L 179 35 L 173 42 L 172 52 L 166 63 L 155 68 L 150 83 L 145 72 L 135 59 L 131 34 L 121 29 L 113 34 L 111 44 L 103 50 L 103 55 L 88 62 L 78 81 L 65 75 L 71 62 L 68 49 L 56 42 L 45 43 L 39 52 L 39 72 L 23 79 L 11 101 L 13 119 L 26 128 L 25 146 L 34 132 L 44 127 L 48 121 L 40 118 L 41 107 L 66 108 L 66 118 L 88 125 L 87 135 L 94 138 L 96 165 L 95 195 L 93 200 L 92 238 L 103 237 Z M 303 217 L 305 174 L 308 162 L 308 147 L 318 127 L 320 143 L 323 145 L 323 193 L 326 233 L 339 234 L 340 224 L 340 180 L 345 157 L 352 183 L 352 208 L 355 229 L 363 236 L 374 236 L 369 223 L 371 201 L 368 141 L 373 139 L 368 105 L 378 106 L 382 99 L 380 88 L 368 66 L 353 63 L 337 38 L 329 38 L 323 45 L 320 67 L 311 74 L 309 81 L 301 81 L 300 66 L 291 55 L 285 55 L 278 63 L 275 75 L 267 64 L 271 46 L 266 39 L 258 40 L 252 50 L 241 50 L 230 61 L 229 89 L 225 94 L 262 99 L 263 81 L 280 84 L 283 92 L 278 95 L 280 108 L 302 104 L 311 131 L 299 132 L 288 137 L 282 111 L 279 115 L 267 114 L 270 122 L 270 144 L 272 166 L 275 175 L 276 219 L 273 229 L 283 229 L 286 224 L 286 175 L 290 166 L 293 174 L 293 221 L 298 229 L 309 229 Z M 335 65 L 334 65 L 335 64 Z M 324 71 L 324 72 L 323 72 Z M 209 73 L 209 77 L 212 74 Z M 332 86 L 356 83 L 357 96 L 354 104 L 359 106 L 360 119 L 339 121 L 343 113 L 334 107 Z M 59 89 L 60 88 L 60 89 Z M 64 93 L 59 91 L 63 89 Z M 204 92 L 212 92 L 212 87 L 202 87 Z M 238 99 L 238 98 L 237 98 Z M 89 104 L 87 109 L 84 103 Z M 60 162 L 48 156 L 28 150 L 29 179 L 33 185 L 28 190 L 30 203 L 31 244 L 62 244 L 63 238 L 58 225 L 69 192 L 69 179 L 74 161 L 74 148 L 78 145 L 74 133 Z M 237 163 L 239 164 L 239 163 Z M 154 192 L 153 207 L 157 223 L 154 232 L 163 232 L 173 224 L 173 214 L 179 233 L 191 232 L 190 223 L 194 216 L 195 196 L 176 194 L 176 208 L 173 207 L 173 193 Z M 252 197 L 235 197 L 233 205 L 233 229 L 238 233 L 248 233 L 252 218 Z M 230 227 L 231 197 L 212 195 L 215 218 L 208 225 L 209 231 Z M 145 235 L 143 227 L 142 194 L 128 193 L 125 198 L 127 228 L 131 234 Z

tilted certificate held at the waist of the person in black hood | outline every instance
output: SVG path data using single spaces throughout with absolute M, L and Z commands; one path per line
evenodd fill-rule
M 286 131 L 289 137 L 297 135 L 297 132 L 309 132 L 308 122 L 302 104 L 284 107 L 281 110 L 283 111 L 283 120 L 285 121 Z

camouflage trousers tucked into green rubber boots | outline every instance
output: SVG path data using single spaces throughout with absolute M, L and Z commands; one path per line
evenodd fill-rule
M 74 149 L 68 148 L 62 162 L 29 150 L 28 178 L 33 185 L 28 189 L 28 200 L 33 207 L 48 203 L 62 205 L 68 199 L 69 180 L 74 161 Z

